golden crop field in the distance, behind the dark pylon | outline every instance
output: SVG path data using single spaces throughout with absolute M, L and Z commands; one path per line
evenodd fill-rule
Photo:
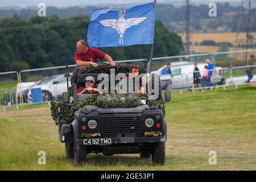
M 185 34 L 179 34 L 183 42 L 186 42 Z M 236 43 L 236 32 L 213 32 L 213 33 L 193 33 L 191 34 L 191 42 L 200 43 L 204 40 L 213 40 L 216 43 L 220 42 L 229 42 L 233 45 Z M 253 35 L 256 38 L 256 32 L 251 32 L 250 35 Z M 238 39 L 246 39 L 246 33 L 241 32 L 238 34 Z

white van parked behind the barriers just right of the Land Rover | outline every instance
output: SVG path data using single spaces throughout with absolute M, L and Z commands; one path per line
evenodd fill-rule
M 152 71 L 151 73 L 157 73 L 160 75 L 160 80 L 166 80 L 171 79 L 172 89 L 181 89 L 181 88 L 187 88 L 191 87 L 193 84 L 193 70 L 194 70 L 194 63 L 188 62 L 188 61 L 180 61 L 171 64 L 171 75 L 161 75 L 162 70 L 166 67 L 164 65 L 163 67 L 159 68 L 156 71 Z M 197 67 L 200 70 L 201 75 L 203 75 L 204 72 L 204 66 L 207 65 L 205 63 L 197 63 Z M 219 84 L 222 80 L 222 76 L 218 73 L 219 70 L 222 69 L 221 67 L 215 67 L 215 70 L 213 71 L 213 75 L 211 78 L 211 82 L 213 84 Z

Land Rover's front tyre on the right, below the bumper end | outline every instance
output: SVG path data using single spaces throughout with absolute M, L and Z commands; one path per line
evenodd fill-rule
M 153 166 L 163 166 L 166 162 L 166 142 L 158 142 L 154 144 L 154 150 L 152 152 Z

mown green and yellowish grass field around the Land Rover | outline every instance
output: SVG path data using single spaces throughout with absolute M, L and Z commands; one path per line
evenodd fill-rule
M 85 167 L 65 159 L 49 106 L 0 111 L 1 170 L 255 170 L 256 88 L 243 86 L 195 93 L 172 93 L 166 104 L 166 165 L 151 166 L 139 155 L 90 154 Z M 46 151 L 46 165 L 38 152 Z M 217 164 L 208 163 L 209 151 Z

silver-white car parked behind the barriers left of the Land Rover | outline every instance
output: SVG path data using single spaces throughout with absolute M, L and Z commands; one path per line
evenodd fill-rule
M 68 78 L 68 85 L 71 86 L 70 77 Z M 38 84 L 31 87 L 42 89 L 43 102 L 55 99 L 62 99 L 63 92 L 67 92 L 67 78 L 63 75 L 49 76 L 41 80 Z M 31 90 L 28 92 L 28 102 L 32 102 Z

